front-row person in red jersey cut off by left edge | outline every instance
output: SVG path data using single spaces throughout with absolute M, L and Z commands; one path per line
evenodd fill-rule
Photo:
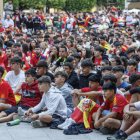
M 0 66 L 0 111 L 16 106 L 16 100 L 10 85 L 2 79 L 4 68 Z

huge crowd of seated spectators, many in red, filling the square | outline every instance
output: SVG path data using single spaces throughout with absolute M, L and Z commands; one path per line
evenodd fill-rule
M 13 13 L 12 2 L 0 16 L 0 123 L 108 140 L 139 131 L 140 13 Z

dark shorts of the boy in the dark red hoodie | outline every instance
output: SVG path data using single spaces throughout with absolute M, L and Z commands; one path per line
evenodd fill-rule
M 12 113 L 17 113 L 18 107 L 21 107 L 23 110 L 28 110 L 29 108 L 31 108 L 27 105 L 18 105 L 18 106 L 11 107 L 7 110 L 4 110 L 4 112 L 7 114 L 7 116 L 12 114 Z

